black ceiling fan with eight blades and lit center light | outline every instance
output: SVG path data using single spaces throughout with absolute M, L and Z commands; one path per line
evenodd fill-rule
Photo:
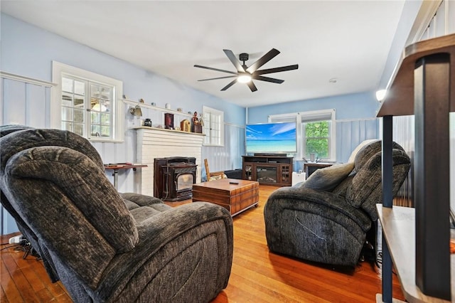
M 268 53 L 266 53 L 261 58 L 259 58 L 255 63 L 250 65 L 250 67 L 245 65 L 245 61 L 247 61 L 249 58 L 249 55 L 247 53 L 241 53 L 239 55 L 240 61 L 243 62 L 243 64 L 240 64 L 240 61 L 237 60 L 234 53 L 232 53 L 232 50 L 223 50 L 223 51 L 228 56 L 230 62 L 232 62 L 232 64 L 235 66 L 235 68 L 237 69 L 237 72 L 232 72 L 230 70 L 220 70 L 219 68 L 209 68 L 207 66 L 196 64 L 196 65 L 194 65 L 195 68 L 205 68 L 207 70 L 216 70 L 218 72 L 232 74 L 232 75 L 225 76 L 225 77 L 203 79 L 203 80 L 198 80 L 198 81 L 235 78 L 234 80 L 232 80 L 232 82 L 230 82 L 228 85 L 223 87 L 221 90 L 227 90 L 229 87 L 231 87 L 235 83 L 240 82 L 240 83 L 245 83 L 246 85 L 248 85 L 248 87 L 250 87 L 250 90 L 252 92 L 255 92 L 257 90 L 257 87 L 256 87 L 255 83 L 252 82 L 253 79 L 281 84 L 281 83 L 284 83 L 284 80 L 264 77 L 262 75 L 270 74 L 270 73 L 279 73 L 279 72 L 284 72 L 287 70 L 296 70 L 297 68 L 299 68 L 298 64 L 294 64 L 294 65 L 281 66 L 279 68 L 267 68 L 265 70 L 258 70 L 258 68 L 260 68 L 262 65 L 269 62 L 269 60 L 272 60 L 276 55 L 279 54 L 279 50 L 276 50 L 275 48 L 272 48 L 272 50 L 269 50 Z

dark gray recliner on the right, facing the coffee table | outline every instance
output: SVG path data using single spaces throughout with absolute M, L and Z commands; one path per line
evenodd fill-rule
M 395 196 L 410 170 L 410 158 L 395 142 L 392 157 Z M 264 206 L 269 250 L 354 267 L 367 233 L 378 220 L 381 165 L 378 140 L 360 149 L 353 162 L 319 169 L 301 184 L 274 191 Z

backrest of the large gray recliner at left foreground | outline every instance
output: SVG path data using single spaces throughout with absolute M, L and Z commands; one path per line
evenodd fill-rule
M 86 139 L 55 129 L 14 132 L 0 144 L 0 185 L 7 198 L 1 203 L 10 203 L 31 232 L 41 230 L 38 245 L 59 254 L 48 257 L 95 288 L 109 260 L 139 240 L 99 154 Z M 62 225 L 64 230 L 53 228 Z M 86 261 L 83 267 L 77 255 Z

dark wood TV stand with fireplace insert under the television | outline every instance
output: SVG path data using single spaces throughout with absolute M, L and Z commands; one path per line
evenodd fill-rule
M 285 154 L 242 156 L 242 179 L 273 186 L 292 186 L 293 159 Z

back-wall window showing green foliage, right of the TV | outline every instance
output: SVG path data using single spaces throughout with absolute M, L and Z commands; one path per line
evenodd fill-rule
M 269 116 L 269 122 L 290 121 L 297 122 L 297 157 L 336 160 L 335 109 Z

